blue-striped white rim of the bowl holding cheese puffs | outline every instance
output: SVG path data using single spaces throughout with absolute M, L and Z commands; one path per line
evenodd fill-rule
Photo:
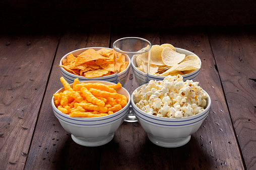
M 83 82 L 87 82 L 87 83 L 92 83 L 92 82 L 96 83 L 96 82 L 98 82 L 98 83 L 107 83 L 107 84 L 109 83 L 109 84 L 115 85 L 115 83 L 106 82 L 106 81 L 100 81 L 100 80 L 87 80 L 87 81 L 81 81 L 80 83 L 83 83 Z M 73 86 L 73 84 L 74 83 L 72 83 L 70 85 Z M 58 89 L 56 92 L 61 91 L 63 89 L 64 89 L 64 87 Z M 62 117 L 65 117 L 65 118 L 69 118 L 71 120 L 75 120 L 75 121 L 101 121 L 101 120 L 107 120 L 107 119 L 110 119 L 112 117 L 118 116 L 119 114 L 121 114 L 127 108 L 129 109 L 129 106 L 130 106 L 130 103 L 131 103 L 130 93 L 125 88 L 123 88 L 123 87 L 121 87 L 121 89 L 123 89 L 127 93 L 127 96 L 125 95 L 127 97 L 127 104 L 126 104 L 126 106 L 124 106 L 121 110 L 119 110 L 119 111 L 117 111 L 117 112 L 115 112 L 113 114 L 106 115 L 106 116 L 101 116 L 101 117 L 70 117 L 69 114 L 65 114 L 65 113 L 63 113 L 63 112 L 61 112 L 61 111 L 59 111 L 57 109 L 57 107 L 54 104 L 54 97 L 53 97 L 53 95 L 52 95 L 52 98 L 51 98 L 51 106 L 52 106 L 52 109 L 54 109 L 59 115 L 61 115 Z M 54 112 L 53 112 L 53 114 L 55 115 Z

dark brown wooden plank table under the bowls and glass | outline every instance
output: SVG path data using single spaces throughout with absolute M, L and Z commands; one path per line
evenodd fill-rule
M 0 169 L 256 169 L 255 27 L 17 30 L 0 33 Z M 212 106 L 184 146 L 157 146 L 139 123 L 122 123 L 109 143 L 85 147 L 54 116 L 50 100 L 62 87 L 61 57 L 85 47 L 111 48 L 127 36 L 201 58 L 197 81 Z M 138 87 L 133 73 L 124 87 L 130 93 Z

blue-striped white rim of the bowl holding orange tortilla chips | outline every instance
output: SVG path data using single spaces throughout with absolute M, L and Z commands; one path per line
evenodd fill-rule
M 67 53 L 66 55 L 64 55 L 61 59 L 60 59 L 60 61 L 59 61 L 59 65 L 62 65 L 62 60 L 63 59 L 65 59 L 65 58 L 67 58 L 67 56 L 69 55 L 69 54 L 71 54 L 71 53 L 74 53 L 74 52 L 77 52 L 77 51 L 86 51 L 86 50 L 88 50 L 88 49 L 102 49 L 102 48 L 104 48 L 104 49 L 109 49 L 109 50 L 112 50 L 112 52 L 113 52 L 113 49 L 111 49 L 111 48 L 106 48 L 106 47 L 88 47 L 88 48 L 82 48 L 82 49 L 77 49 L 77 50 L 74 50 L 74 51 L 71 51 L 71 52 L 69 52 L 69 53 Z M 83 51 L 83 52 L 84 52 Z M 101 79 L 101 81 L 103 80 L 106 80 L 106 79 L 109 79 L 109 78 L 113 78 L 113 77 L 116 77 L 117 75 L 118 76 L 121 76 L 122 75 L 122 73 L 125 73 L 127 70 L 129 70 L 129 68 L 130 68 L 130 66 L 131 66 L 131 59 L 130 59 L 130 57 L 127 57 L 128 58 L 128 60 L 129 60 L 129 64 L 128 64 L 128 66 L 126 67 L 126 69 L 125 70 L 123 70 L 122 72 L 120 72 L 120 73 L 117 73 L 117 74 L 113 74 L 113 75 L 108 75 L 108 76 L 102 76 L 102 77 L 94 77 L 94 78 L 87 78 L 87 77 L 85 77 L 85 76 L 78 76 L 78 75 L 75 75 L 75 74 L 72 74 L 72 73 L 69 73 L 68 71 L 66 71 L 65 69 L 63 69 L 61 66 L 59 66 L 60 67 L 60 70 L 63 72 L 63 73 L 65 73 L 65 74 L 67 74 L 67 75 L 69 75 L 70 77 L 73 77 L 73 78 L 79 78 L 79 79 L 88 79 L 88 80 L 84 80 L 84 81 L 90 81 L 90 80 L 98 80 L 99 78 L 104 78 L 104 79 Z M 119 75 L 120 74 L 120 75 Z

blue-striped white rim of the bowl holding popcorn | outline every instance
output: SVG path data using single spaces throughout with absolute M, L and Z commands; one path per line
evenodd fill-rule
M 148 85 L 149 83 L 145 84 L 146 86 Z M 143 86 L 143 85 L 142 85 Z M 136 90 L 138 91 L 138 89 L 141 89 L 142 86 L 138 87 Z M 136 91 L 134 90 L 134 92 Z M 134 95 L 132 93 L 131 95 L 131 103 L 132 103 L 132 106 L 134 107 L 134 109 L 136 111 L 138 111 L 139 113 L 141 113 L 143 116 L 147 117 L 147 118 L 150 118 L 150 119 L 154 119 L 154 120 L 157 120 L 157 121 L 163 121 L 163 122 L 184 122 L 184 121 L 190 121 L 190 120 L 194 120 L 194 119 L 197 119 L 201 116 L 204 116 L 205 114 L 208 113 L 208 111 L 210 110 L 210 107 L 211 107 L 211 97 L 210 95 L 204 90 L 202 89 L 202 91 L 204 93 L 207 94 L 208 98 L 207 98 L 207 107 L 205 108 L 204 111 L 196 114 L 196 115 L 193 115 L 193 116 L 188 116 L 188 117 L 181 117 L 181 118 L 175 118 L 175 117 L 159 117 L 159 116 L 155 116 L 155 115 L 151 115 L 143 110 L 141 110 L 139 107 L 136 106 L 135 102 L 134 102 Z

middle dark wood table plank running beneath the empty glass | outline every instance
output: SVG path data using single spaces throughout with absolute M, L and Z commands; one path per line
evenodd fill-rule
M 152 44 L 160 44 L 156 29 L 133 29 L 114 27 L 111 44 L 123 37 L 141 37 Z M 130 77 L 124 87 L 132 94 L 138 87 L 135 78 Z M 139 123 L 122 123 L 116 130 L 114 139 L 103 146 L 101 169 L 172 169 L 172 152 L 153 144 Z

